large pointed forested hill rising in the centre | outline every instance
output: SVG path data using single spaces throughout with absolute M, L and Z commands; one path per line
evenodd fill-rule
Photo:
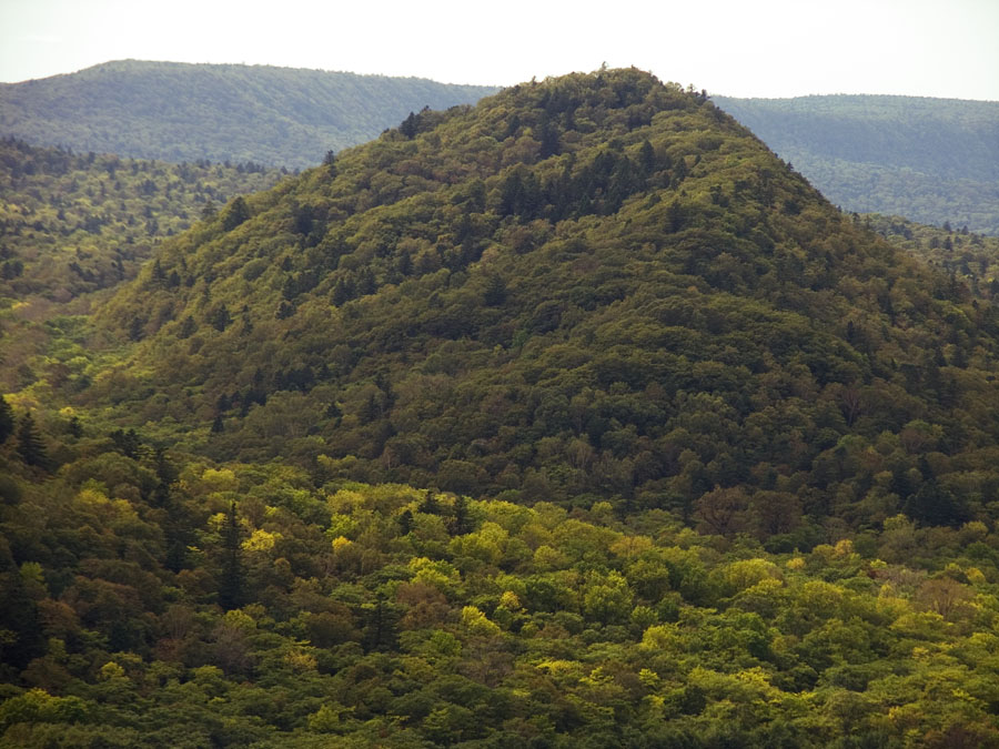
M 993 306 L 644 73 L 407 118 L 158 260 L 81 403 L 219 459 L 684 518 L 776 492 L 744 527 L 791 547 L 991 512 L 959 476 L 992 476 Z

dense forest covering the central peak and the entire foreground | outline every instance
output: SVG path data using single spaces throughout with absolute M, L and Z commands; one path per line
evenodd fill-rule
M 0 741 L 999 747 L 992 245 L 634 69 L 203 211 L 3 386 Z

